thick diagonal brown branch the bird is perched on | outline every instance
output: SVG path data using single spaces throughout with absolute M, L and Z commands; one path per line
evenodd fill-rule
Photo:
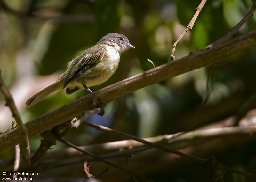
M 28 137 L 42 133 L 67 120 L 72 120 L 85 111 L 93 110 L 96 107 L 104 107 L 114 99 L 133 91 L 218 62 L 220 59 L 233 55 L 255 44 L 256 30 L 225 42 L 218 47 L 190 54 L 175 62 L 163 64 L 115 84 L 111 84 L 27 122 L 25 125 L 28 128 Z M 0 152 L 19 143 L 17 132 L 17 128 L 15 128 L 0 135 Z

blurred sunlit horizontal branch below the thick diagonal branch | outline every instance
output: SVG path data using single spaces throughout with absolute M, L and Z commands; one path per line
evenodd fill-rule
M 211 129 L 202 129 L 202 130 L 196 130 L 196 131 L 190 131 L 178 138 L 176 140 L 172 141 L 172 144 L 179 143 L 179 147 L 185 147 L 182 145 L 182 142 L 188 142 L 188 144 L 191 141 L 195 140 L 202 140 L 202 139 L 210 139 L 210 138 L 220 138 L 220 137 L 226 137 L 226 136 L 254 136 L 256 134 L 256 129 L 254 126 L 252 127 L 222 127 L 222 128 L 211 128 Z M 165 143 L 170 143 L 168 140 L 172 138 L 174 135 L 164 135 L 164 136 L 155 136 L 155 137 L 150 137 L 150 138 L 144 138 L 144 140 L 148 142 L 161 142 L 161 141 L 167 141 Z M 108 148 L 106 148 L 106 144 Z M 105 146 L 104 150 L 103 146 Z M 128 148 L 128 146 L 132 146 L 133 149 L 135 148 L 141 148 L 144 146 L 143 143 L 137 142 L 134 140 L 123 140 L 123 141 L 116 141 L 116 142 L 108 142 L 108 143 L 103 143 L 103 144 L 94 144 L 94 145 L 89 145 L 89 146 L 83 146 L 81 147 L 82 149 L 91 151 L 93 153 L 97 153 L 98 155 L 116 151 L 120 148 Z M 135 153 L 136 151 L 134 150 L 129 150 L 130 153 Z M 120 153 L 120 152 L 119 152 Z M 122 154 L 122 153 L 121 153 Z M 80 153 L 77 152 L 76 150 L 72 149 L 62 149 L 59 151 L 51 151 L 46 154 L 46 159 L 51 159 L 51 158 L 67 158 L 67 157 L 75 157 L 79 156 Z M 113 157 L 113 156 L 111 156 Z

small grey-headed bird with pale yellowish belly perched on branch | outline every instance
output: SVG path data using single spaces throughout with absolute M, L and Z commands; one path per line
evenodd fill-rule
M 108 33 L 100 41 L 72 61 L 68 62 L 67 70 L 58 80 L 36 93 L 26 101 L 31 107 L 50 93 L 65 89 L 71 94 L 79 89 L 89 89 L 91 86 L 102 84 L 112 76 L 119 64 L 120 55 L 128 48 L 135 48 L 123 34 Z

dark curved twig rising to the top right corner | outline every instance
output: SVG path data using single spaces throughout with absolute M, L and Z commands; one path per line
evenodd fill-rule
M 204 47 L 204 49 L 209 49 L 209 48 L 215 47 L 219 44 L 222 44 L 226 40 L 228 40 L 232 35 L 234 35 L 239 30 L 239 28 L 242 25 L 244 25 L 245 22 L 247 22 L 253 16 L 253 13 L 255 10 L 256 10 L 256 1 L 252 4 L 251 10 L 247 13 L 247 15 L 245 15 L 245 17 L 238 24 L 236 24 L 236 26 L 234 26 L 232 29 L 230 29 L 228 31 L 228 33 L 225 34 L 224 36 L 222 36 L 220 39 L 218 39 L 215 42 L 211 43 L 210 45 Z

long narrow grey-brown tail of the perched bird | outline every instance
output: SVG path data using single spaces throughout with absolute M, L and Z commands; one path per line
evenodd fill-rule
M 63 83 L 61 83 L 60 81 L 56 81 L 55 83 L 49 85 L 48 87 L 46 87 L 44 90 L 36 93 L 35 95 L 33 95 L 32 97 L 30 97 L 27 101 L 26 101 L 26 106 L 31 107 L 34 104 L 36 104 L 37 102 L 41 101 L 43 98 L 45 98 L 46 96 L 48 96 L 50 93 L 63 88 Z

